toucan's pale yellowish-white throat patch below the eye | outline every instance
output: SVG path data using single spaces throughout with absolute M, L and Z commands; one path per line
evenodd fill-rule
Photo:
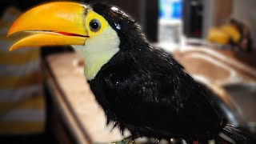
M 111 27 L 93 38 L 88 38 L 85 46 L 73 46 L 84 59 L 84 73 L 87 80 L 92 80 L 114 54 L 118 53 L 120 40 Z

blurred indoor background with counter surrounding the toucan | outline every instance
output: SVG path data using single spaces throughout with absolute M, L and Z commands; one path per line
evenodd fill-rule
M 0 142 L 91 143 L 110 134 L 70 46 L 9 52 L 12 22 L 43 0 L 0 2 Z M 219 95 L 230 123 L 256 130 L 256 1 L 88 0 L 129 13 L 142 32 Z M 88 98 L 90 100 L 88 100 Z

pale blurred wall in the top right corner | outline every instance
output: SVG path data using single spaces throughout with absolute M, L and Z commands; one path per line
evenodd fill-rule
M 254 48 L 256 47 L 256 0 L 234 0 L 233 17 L 250 27 Z

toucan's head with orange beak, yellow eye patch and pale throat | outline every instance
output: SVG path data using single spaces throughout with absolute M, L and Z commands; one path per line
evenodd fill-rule
M 51 2 L 28 10 L 14 22 L 7 35 L 14 33 L 26 36 L 10 50 L 27 46 L 73 46 L 84 58 L 89 80 L 114 54 L 127 49 L 127 43 L 144 39 L 136 22 L 118 8 L 75 2 Z

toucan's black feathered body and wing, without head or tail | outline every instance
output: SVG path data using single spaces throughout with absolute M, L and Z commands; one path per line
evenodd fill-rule
M 123 61 L 117 54 L 90 82 L 95 96 L 101 97 L 97 99 L 107 105 L 106 113 L 112 111 L 110 117 L 131 132 L 151 129 L 154 135 L 202 137 L 218 133 L 222 118 L 206 91 L 170 55 L 159 50 L 149 53 L 143 57 L 136 53 Z

